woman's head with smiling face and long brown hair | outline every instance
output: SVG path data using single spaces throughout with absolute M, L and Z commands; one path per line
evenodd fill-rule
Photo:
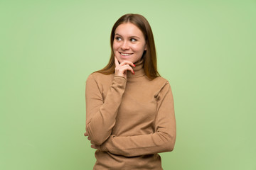
M 100 70 L 103 74 L 114 72 L 114 56 L 122 62 L 137 62 L 142 58 L 147 77 L 159 77 L 156 69 L 156 48 L 154 36 L 144 16 L 128 13 L 117 20 L 110 35 L 111 56 L 107 66 Z

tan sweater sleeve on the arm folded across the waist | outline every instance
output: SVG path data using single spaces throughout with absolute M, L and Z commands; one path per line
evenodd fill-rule
M 125 157 L 172 151 L 176 140 L 176 120 L 174 99 L 168 81 L 155 98 L 157 113 L 154 133 L 127 137 L 111 135 L 101 145 L 102 151 Z

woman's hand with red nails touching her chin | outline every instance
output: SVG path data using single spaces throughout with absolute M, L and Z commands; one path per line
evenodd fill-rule
M 126 79 L 127 71 L 130 71 L 132 72 L 132 74 L 134 74 L 134 70 L 132 69 L 132 67 L 135 67 L 135 65 L 132 62 L 124 61 L 119 64 L 117 57 L 114 56 L 114 64 L 115 64 L 115 71 L 114 71 L 115 76 L 124 77 Z

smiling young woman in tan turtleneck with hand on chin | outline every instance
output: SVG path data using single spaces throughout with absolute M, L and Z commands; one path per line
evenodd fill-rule
M 110 62 L 86 81 L 86 132 L 94 169 L 162 169 L 176 140 L 169 81 L 156 69 L 148 21 L 126 14 L 112 28 Z

